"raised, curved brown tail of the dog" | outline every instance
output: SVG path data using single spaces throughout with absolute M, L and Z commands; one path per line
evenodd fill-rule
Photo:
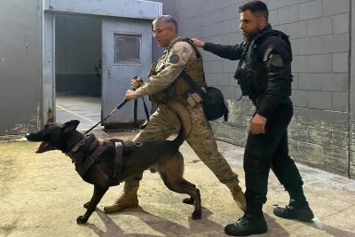
M 178 147 L 181 146 L 185 138 L 190 135 L 190 132 L 192 130 L 191 116 L 187 108 L 177 100 L 170 101 L 168 103 L 168 107 L 170 107 L 170 109 L 177 114 L 177 117 L 181 123 L 177 138 L 172 141 L 172 143 Z

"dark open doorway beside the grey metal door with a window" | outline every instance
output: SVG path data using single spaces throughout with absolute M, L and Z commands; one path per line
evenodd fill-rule
M 101 82 L 101 19 L 56 15 L 56 121 L 79 120 L 82 131 L 99 122 Z

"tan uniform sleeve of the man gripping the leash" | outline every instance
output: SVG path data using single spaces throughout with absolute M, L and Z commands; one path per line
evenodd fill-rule
M 178 38 L 177 38 L 178 39 Z M 170 43 L 175 43 L 176 40 Z M 148 81 L 136 90 L 138 96 L 152 95 L 158 91 L 162 91 L 173 83 L 189 59 L 196 58 L 193 47 L 186 42 L 179 41 L 175 43 L 171 49 L 164 51 L 162 58 L 158 60 L 159 65 L 165 65 L 158 75 L 152 75 Z M 166 55 L 166 57 L 164 57 Z

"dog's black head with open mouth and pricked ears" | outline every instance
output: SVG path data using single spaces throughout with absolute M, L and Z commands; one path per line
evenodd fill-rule
M 78 120 L 72 120 L 64 124 L 48 123 L 43 130 L 26 134 L 28 141 L 42 141 L 36 153 L 44 153 L 51 150 L 67 152 L 67 138 L 76 130 Z

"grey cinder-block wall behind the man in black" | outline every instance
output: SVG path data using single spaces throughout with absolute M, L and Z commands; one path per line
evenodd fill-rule
M 213 43 L 241 43 L 238 6 L 245 2 L 177 0 L 180 35 Z M 293 46 L 295 115 L 288 130 L 292 157 L 355 178 L 354 162 L 350 162 L 350 144 L 354 146 L 355 139 L 352 135 L 350 140 L 350 97 L 354 98 L 350 94 L 350 0 L 265 3 L 272 26 L 287 33 Z M 208 83 L 224 91 L 231 112 L 228 122 L 213 122 L 217 138 L 244 146 L 254 108 L 248 99 L 236 101 L 241 95 L 233 79 L 236 62 L 209 52 L 203 56 Z

